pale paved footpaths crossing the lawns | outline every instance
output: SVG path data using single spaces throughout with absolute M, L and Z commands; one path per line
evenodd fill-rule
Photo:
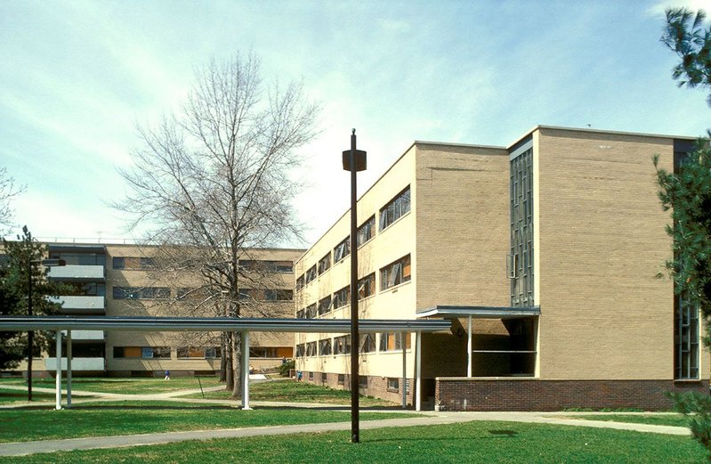
M 217 389 L 222 387 L 217 387 Z M 48 389 L 53 391 L 52 389 Z M 198 390 L 199 392 L 199 390 Z M 74 393 L 74 392 L 73 392 Z M 85 392 L 89 394 L 90 392 Z M 117 401 L 125 399 L 170 399 L 170 401 L 189 401 L 190 403 L 229 403 L 233 401 L 224 400 L 196 400 L 188 398 L 175 398 L 177 395 L 186 395 L 193 391 L 178 391 L 160 395 L 119 395 L 119 394 L 96 394 L 95 397 L 87 401 L 96 401 L 101 397 L 103 401 Z M 33 403 L 34 404 L 34 403 Z M 347 405 L 326 406 L 323 404 L 303 404 L 303 403 L 270 403 L 252 402 L 255 407 L 279 404 L 289 407 L 319 407 L 321 409 L 333 409 L 349 411 Z M 14 407 L 21 405 L 15 403 Z M 12 407 L 12 406 L 9 406 Z M 372 411 L 363 408 L 362 411 Z M 383 411 L 383 410 L 380 410 Z M 387 410 L 403 411 L 403 410 Z M 403 411 L 412 413 L 413 411 Z M 419 413 L 416 418 L 364 420 L 360 422 L 360 428 L 364 430 L 381 427 L 413 427 L 432 426 L 441 424 L 453 424 L 456 422 L 469 422 L 472 420 L 498 420 L 510 422 L 532 422 L 537 424 L 558 424 L 574 427 L 596 427 L 615 428 L 618 430 L 633 430 L 645 433 L 657 433 L 665 435 L 688 436 L 690 431 L 686 427 L 653 426 L 648 424 L 633 424 L 625 422 L 611 422 L 602 420 L 572 419 L 570 416 L 602 415 L 604 413 L 592 412 L 437 412 L 425 411 Z M 625 413 L 634 414 L 634 413 Z M 35 442 L 0 444 L 0 456 L 21 456 L 26 454 L 42 452 L 58 452 L 69 450 L 89 450 L 97 448 L 120 448 L 127 446 L 140 446 L 148 444 L 167 444 L 182 442 L 186 440 L 210 440 L 214 438 L 240 438 L 246 436 L 279 436 L 296 433 L 319 433 L 332 430 L 350 430 L 351 422 L 336 422 L 327 424 L 302 424 L 293 426 L 276 427 L 246 427 L 228 428 L 218 430 L 195 430 L 188 432 L 166 432 L 158 434 L 130 435 L 130 436 L 92 436 L 87 438 L 70 438 L 64 440 L 41 440 Z

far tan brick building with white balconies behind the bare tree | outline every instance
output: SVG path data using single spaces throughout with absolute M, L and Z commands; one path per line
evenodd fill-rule
M 120 244 L 48 243 L 49 257 L 65 266 L 51 267 L 48 277 L 74 284 L 73 295 L 58 298 L 62 314 L 106 316 L 224 315 L 220 306 L 198 290 L 197 271 L 168 271 L 158 265 L 159 248 Z M 247 276 L 240 289 L 241 313 L 246 317 L 292 317 L 293 263 L 302 249 L 251 249 L 240 260 Z M 214 299 L 214 298 L 212 298 Z M 293 356 L 294 335 L 259 333 L 251 336 L 251 365 L 278 366 Z M 66 353 L 66 350 L 65 350 Z M 34 366 L 55 369 L 54 346 Z M 44 361 L 44 362 L 42 362 Z M 220 369 L 218 333 L 72 331 L 72 370 L 75 375 L 113 376 L 212 373 Z M 63 361 L 66 366 L 66 359 Z M 25 370 L 23 363 L 19 370 Z M 38 372 L 41 374 L 41 372 Z

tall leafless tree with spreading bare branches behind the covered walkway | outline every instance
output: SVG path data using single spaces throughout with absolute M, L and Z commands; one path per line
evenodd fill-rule
M 159 267 L 199 276 L 194 308 L 240 317 L 240 288 L 255 279 L 240 260 L 251 248 L 300 237 L 291 206 L 295 151 L 315 136 L 318 114 L 299 83 L 264 85 L 250 53 L 210 61 L 181 111 L 139 127 L 133 167 L 119 169 L 131 192 L 115 206 L 133 215 L 130 227 L 149 230 L 147 240 L 162 250 Z M 234 366 L 228 388 L 240 379 L 241 339 L 232 335 L 223 337 Z M 233 395 L 240 392 L 235 381 Z

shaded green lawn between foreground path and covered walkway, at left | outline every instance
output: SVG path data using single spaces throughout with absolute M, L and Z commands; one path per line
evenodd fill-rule
M 400 412 L 361 412 L 363 420 L 412 417 Z M 259 408 L 165 401 L 75 403 L 69 410 L 26 406 L 0 410 L 0 443 L 350 421 L 347 411 Z

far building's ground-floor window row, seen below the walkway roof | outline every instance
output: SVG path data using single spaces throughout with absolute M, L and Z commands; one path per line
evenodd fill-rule
M 251 346 L 249 355 L 253 358 L 291 357 L 291 348 L 275 346 Z M 220 346 L 178 346 L 177 359 L 219 359 Z M 114 346 L 114 358 L 171 359 L 170 346 Z

